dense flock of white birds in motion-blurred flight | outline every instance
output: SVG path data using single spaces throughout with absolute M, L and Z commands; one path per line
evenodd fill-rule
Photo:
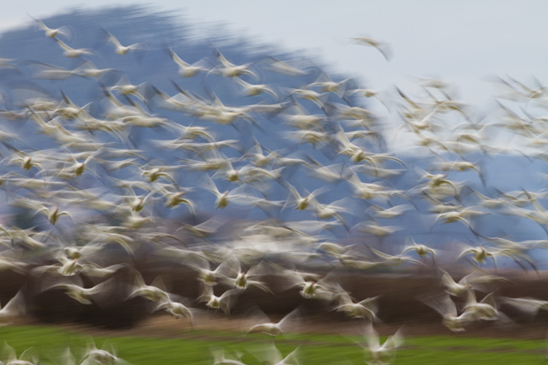
M 510 77 L 499 79 L 504 93 L 497 97 L 500 108 L 492 113 L 497 121 L 488 123 L 489 116 L 478 121 L 471 105 L 453 97 L 453 84 L 438 79 L 419 79 L 420 97 L 399 88 L 393 95 L 356 88 L 352 79 L 334 81 L 323 72 L 316 72 L 309 84 L 284 87 L 260 81 L 266 73 L 305 77 L 310 74 L 307 66 L 273 57 L 234 64 L 216 48 L 212 57 L 189 64 L 184 55 L 163 45 L 166 57 L 177 65 L 174 78 L 203 78 L 203 92 L 173 81 L 177 93 L 171 95 L 149 82 L 131 84 L 123 70 L 95 67 L 97 50 L 72 48 L 71 29 L 52 29 L 35 21 L 45 34 L 43 41 L 58 47 L 60 56 L 79 60 L 79 66 L 68 69 L 3 58 L 0 68 L 21 74 L 30 70 L 35 79 L 81 77 L 82 88 L 93 85 L 103 96 L 78 105 L 63 91 L 31 92 L 27 86 L 3 90 L 1 189 L 6 205 L 25 212 L 34 227 L 11 225 L 12 217 L 4 217 L 0 270 L 25 275 L 38 293 L 58 290 L 84 306 L 99 307 L 140 297 L 153 312 L 187 318 L 192 326 L 204 310 L 229 316 L 247 290 L 260 290 L 274 299 L 279 292 L 297 294 L 298 289 L 304 301 L 322 301 L 329 310 L 362 321 L 365 343 L 360 346 L 368 364 L 393 361 L 403 335 L 397 331 L 380 344 L 374 328 L 382 320 L 377 315 L 379 298 L 353 297 L 339 273 L 398 273 L 398 267 L 431 270 L 439 277 L 440 292 L 417 300 L 438 312 L 451 331 L 464 331 L 471 323 L 511 323 L 499 310 L 501 305 L 530 316 L 548 310 L 548 301 L 497 297 L 493 291 L 508 279 L 490 270 L 497 262 L 537 270 L 529 253 L 547 248 L 548 240 L 488 236 L 476 224 L 484 216 L 506 215 L 534 221 L 546 231 L 546 190 L 497 191 L 490 188 L 484 168 L 467 160 L 478 153 L 508 152 L 488 144 L 497 133 L 511 134 L 537 151 L 527 153 L 530 160 L 546 158 L 547 118 L 534 113 L 548 105 L 548 92 L 540 83 L 527 86 Z M 151 51 L 151 45 L 125 46 L 107 30 L 100 32 L 110 51 L 120 57 Z M 382 42 L 364 37 L 354 41 L 377 48 L 388 60 L 390 52 Z M 225 79 L 256 103 L 223 103 L 208 83 L 212 78 Z M 429 171 L 408 166 L 388 152 L 379 112 L 383 108 L 395 108 L 393 114 L 402 123 L 394 134 L 405 133 L 421 153 L 427 153 L 425 158 L 432 161 Z M 177 118 L 166 117 L 166 112 Z M 25 142 L 31 135 L 36 144 Z M 288 147 L 265 147 L 271 143 L 265 135 Z M 51 148 L 34 148 L 39 145 Z M 151 151 L 160 157 L 152 158 Z M 166 162 L 173 159 L 178 163 Z M 409 190 L 390 184 L 402 175 L 414 181 Z M 345 196 L 332 201 L 335 189 Z M 211 206 L 206 206 L 208 200 Z M 214 214 L 200 221 L 214 208 L 234 206 L 234 212 L 249 215 L 235 219 Z M 403 247 L 375 248 L 368 243 L 401 234 L 388 222 L 404 215 L 421 217 L 431 230 L 436 225 L 464 225 L 473 239 L 443 247 L 418 243 L 411 236 Z M 164 284 L 169 279 L 165 276 L 147 284 L 138 262 L 151 257 L 194 273 L 198 296 L 173 292 Z M 441 267 L 455 262 L 461 272 L 469 271 L 460 281 Z M 276 284 L 271 284 L 273 278 Z M 0 310 L 3 324 L 25 314 L 24 308 L 32 303 L 28 286 Z M 478 291 L 490 294 L 477 301 Z M 298 307 L 277 322 L 260 316 L 264 320 L 245 333 L 275 338 L 294 329 L 303 313 Z M 3 364 L 37 361 L 25 354 L 17 359 L 12 349 L 4 353 L 9 356 Z M 212 357 L 213 364 L 242 364 L 222 349 L 213 349 Z M 284 357 L 273 343 L 258 358 L 269 364 L 301 362 L 298 351 Z M 78 361 L 67 349 L 60 361 L 122 362 L 113 351 L 95 345 Z

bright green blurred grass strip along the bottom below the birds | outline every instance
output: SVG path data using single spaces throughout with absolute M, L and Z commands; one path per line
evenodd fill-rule
M 99 337 L 116 354 L 132 364 L 212 364 L 210 349 L 223 347 L 225 353 L 240 351 L 245 364 L 260 364 L 251 355 L 271 341 L 266 335 L 243 337 L 227 331 L 182 331 L 181 338 Z M 44 326 L 1 327 L 5 340 L 20 354 L 33 347 L 40 364 L 60 364 L 58 356 L 70 346 L 79 360 L 89 336 Z M 288 335 L 275 340 L 284 355 L 300 346 L 303 364 L 363 364 L 364 351 L 355 344 L 360 338 L 319 334 Z M 381 339 L 384 340 L 384 339 Z M 513 340 L 453 336 L 406 338 L 397 353 L 395 364 L 540 364 L 545 360 L 544 340 Z

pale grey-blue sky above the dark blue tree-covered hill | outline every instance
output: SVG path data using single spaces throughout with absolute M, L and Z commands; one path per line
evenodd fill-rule
M 94 7 L 141 3 L 155 10 L 177 10 L 203 34 L 207 23 L 224 22 L 237 34 L 310 55 L 359 77 L 364 86 L 404 90 L 412 76 L 454 81 L 461 99 L 479 108 L 495 93 L 489 75 L 548 84 L 548 2 L 546 1 L 93 1 Z M 72 8 L 75 2 L 12 2 L 0 14 L 0 30 Z M 349 43 L 349 36 L 388 42 L 386 62 L 371 47 Z M 1 52 L 1 50 L 0 50 Z M 1 56 L 1 53 L 0 53 Z

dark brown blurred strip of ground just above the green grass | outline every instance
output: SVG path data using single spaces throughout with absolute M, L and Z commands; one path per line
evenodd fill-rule
M 507 272 L 504 275 L 510 279 L 510 282 L 501 284 L 495 289 L 497 296 L 534 297 L 548 300 L 548 292 L 544 289 L 548 284 L 547 272 L 538 273 L 538 276 L 534 273 L 518 272 Z M 182 277 L 176 276 L 179 279 Z M 394 333 L 403 326 L 406 336 L 450 335 L 543 339 L 547 335 L 548 314 L 546 312 L 540 310 L 534 318 L 531 318 L 508 305 L 501 305 L 499 310 L 512 319 L 510 325 L 482 321 L 467 325 L 465 332 L 452 333 L 441 325 L 440 315 L 417 299 L 419 296 L 443 290 L 432 274 L 347 273 L 340 274 L 338 277 L 345 283 L 345 289 L 358 300 L 380 295 L 378 317 L 382 322 L 375 324 L 375 329 L 381 334 Z M 192 294 L 194 290 L 197 290 L 195 281 L 190 280 L 190 277 L 187 279 L 185 281 L 188 285 L 184 286 L 184 290 L 175 290 L 177 294 Z M 275 284 L 271 285 L 275 288 Z M 94 305 L 86 306 L 79 303 L 74 305 L 72 299 L 64 296 L 62 292 L 45 294 L 49 294 L 47 298 L 49 310 L 40 312 L 36 308 L 31 308 L 35 315 L 27 316 L 21 324 L 47 322 L 92 336 L 157 336 L 161 338 L 195 336 L 190 331 L 190 323 L 186 318 L 177 319 L 166 312 L 151 314 L 151 306 L 144 299 L 132 299 L 99 312 Z M 479 301 L 482 297 L 483 294 L 478 292 L 477 300 Z M 45 298 L 38 296 L 38 301 L 40 300 Z M 464 303 L 456 298 L 453 300 L 458 305 Z M 194 306 L 201 307 L 199 303 Z M 273 297 L 260 290 L 249 289 L 249 292 L 240 296 L 230 316 L 220 311 L 203 310 L 195 314 L 192 329 L 199 330 L 195 332 L 197 336 L 203 336 L 203 333 L 200 334 L 201 331 L 234 331 L 240 338 L 247 329 L 260 322 L 251 315 L 257 306 L 273 321 L 281 319 L 295 307 L 299 307 L 302 316 L 292 327 L 292 331 L 302 333 L 360 334 L 362 326 L 366 323 L 365 320 L 347 318 L 343 313 L 334 312 L 333 305 L 327 301 L 303 299 L 298 294 L 298 290 L 277 292 Z M 205 308 L 205 305 L 203 307 Z M 241 338 L 245 340 L 244 337 Z

